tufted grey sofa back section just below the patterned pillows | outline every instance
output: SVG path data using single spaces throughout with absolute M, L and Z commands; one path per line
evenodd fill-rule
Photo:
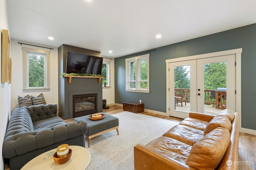
M 33 123 L 58 116 L 57 104 L 32 105 L 25 108 L 28 109 Z

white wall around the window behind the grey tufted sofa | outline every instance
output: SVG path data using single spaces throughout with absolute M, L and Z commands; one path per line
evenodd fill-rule
M 49 40 L 50 41 L 50 40 Z M 53 48 L 53 50 L 34 47 L 30 45 L 20 45 L 19 43 L 26 43 L 42 47 Z M 43 49 L 50 51 L 50 91 L 48 92 L 23 92 L 22 90 L 22 47 L 29 47 L 34 49 Z M 11 111 L 18 108 L 18 96 L 33 95 L 38 96 L 43 93 L 46 103 L 58 104 L 58 47 L 50 47 L 47 45 L 40 45 L 30 42 L 24 42 L 16 39 L 11 39 L 11 56 L 12 56 L 12 85 L 11 85 Z

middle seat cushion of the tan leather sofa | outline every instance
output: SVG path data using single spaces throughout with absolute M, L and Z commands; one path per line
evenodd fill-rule
M 163 136 L 170 137 L 186 143 L 187 145 L 193 146 L 204 136 L 204 131 L 184 125 L 176 125 L 164 133 Z

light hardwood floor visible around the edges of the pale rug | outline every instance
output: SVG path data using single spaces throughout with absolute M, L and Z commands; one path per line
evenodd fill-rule
M 103 109 L 103 112 L 112 115 L 123 112 L 123 107 L 113 105 L 110 106 L 109 109 Z M 183 120 L 177 117 L 163 116 L 146 111 L 142 112 L 142 114 L 176 122 L 180 122 Z M 74 121 L 74 118 L 64 121 L 68 123 Z M 237 163 L 239 164 L 239 170 L 256 170 L 256 135 L 250 135 L 242 132 L 239 133 L 239 150 Z

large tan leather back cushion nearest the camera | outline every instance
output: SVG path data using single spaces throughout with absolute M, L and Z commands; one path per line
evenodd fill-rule
M 220 164 L 230 143 L 230 132 L 218 127 L 193 145 L 186 164 L 198 170 L 213 170 Z

